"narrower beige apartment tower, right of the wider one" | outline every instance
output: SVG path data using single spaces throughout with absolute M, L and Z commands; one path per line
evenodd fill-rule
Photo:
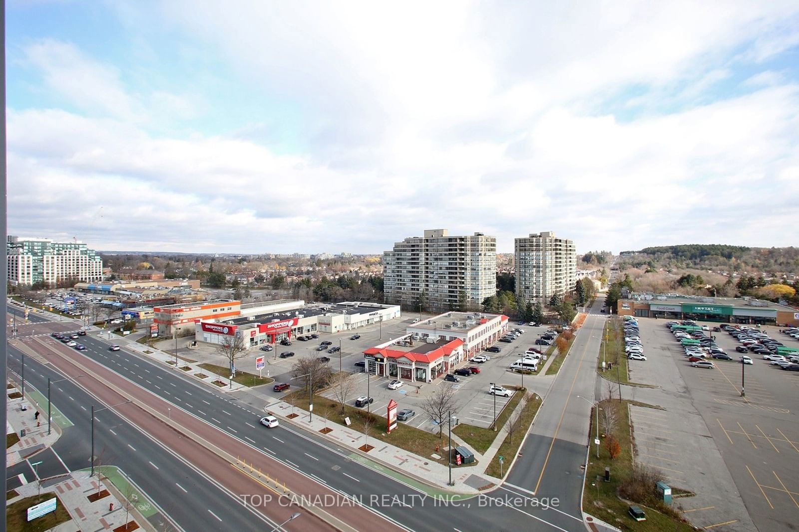
M 515 239 L 516 293 L 547 304 L 574 289 L 577 255 L 574 242 L 552 231 Z

